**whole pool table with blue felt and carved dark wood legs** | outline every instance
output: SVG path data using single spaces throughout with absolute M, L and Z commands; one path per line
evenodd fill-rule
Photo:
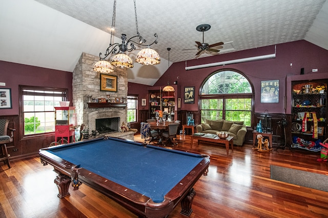
M 87 184 L 141 217 L 165 217 L 181 202 L 189 216 L 194 184 L 207 175 L 208 155 L 105 137 L 39 150 L 58 173 L 59 198 Z

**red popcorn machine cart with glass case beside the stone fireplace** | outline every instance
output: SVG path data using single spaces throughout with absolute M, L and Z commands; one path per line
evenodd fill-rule
M 74 142 L 76 120 L 75 107 L 55 107 L 55 140 L 60 138 L 61 143 L 64 143 L 66 139 L 69 143 L 72 137 Z

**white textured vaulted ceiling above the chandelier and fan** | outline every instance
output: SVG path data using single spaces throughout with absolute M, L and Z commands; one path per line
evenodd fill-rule
M 325 0 L 136 0 L 136 9 L 140 35 L 152 42 L 158 34 L 152 48 L 162 62 L 135 63 L 130 82 L 153 85 L 169 66 L 167 47 L 170 62 L 196 58 L 197 50 L 183 49 L 202 41 L 202 23 L 211 25 L 205 42 L 226 43 L 221 54 L 301 39 L 328 50 Z M 0 60 L 73 71 L 82 52 L 105 53 L 112 13 L 113 0 L 1 0 Z M 114 42 L 122 33 L 136 35 L 133 0 L 117 1 Z

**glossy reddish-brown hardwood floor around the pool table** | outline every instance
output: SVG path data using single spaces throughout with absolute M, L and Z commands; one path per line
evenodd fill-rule
M 142 141 L 140 135 L 135 140 Z M 197 141 L 190 150 L 190 136 L 178 138 L 178 148 L 211 156 L 208 176 L 194 186 L 190 217 L 328 217 L 328 192 L 270 179 L 270 164 L 328 175 L 320 153 L 261 153 L 246 144 L 227 156 L 222 146 Z M 11 163 L 10 169 L 0 165 L 0 217 L 137 217 L 87 185 L 57 198 L 56 173 L 38 157 Z M 169 217 L 186 217 L 180 210 Z

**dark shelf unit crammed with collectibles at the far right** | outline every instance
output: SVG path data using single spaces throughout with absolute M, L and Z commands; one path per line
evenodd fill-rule
M 326 106 L 326 80 L 293 81 L 292 136 L 308 141 L 323 141 L 327 127 Z

